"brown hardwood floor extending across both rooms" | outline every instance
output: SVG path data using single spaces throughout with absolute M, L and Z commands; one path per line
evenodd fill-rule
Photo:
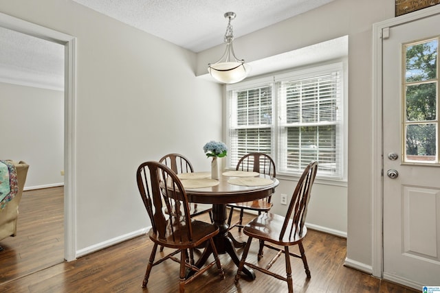
M 22 218 L 19 220 L 19 235 L 0 242 L 5 247 L 5 251 L 0 253 L 0 292 L 178 291 L 179 265 L 170 260 L 153 268 L 148 287 L 142 290 L 146 263 L 153 248 L 146 235 L 81 257 L 76 261 L 64 262 L 63 198 L 62 196 L 59 198 L 59 193 L 57 188 L 25 191 L 20 205 Z M 244 220 L 250 220 L 252 217 L 245 215 Z M 36 224 L 39 221 L 42 224 Z M 238 239 L 244 240 L 244 236 L 241 237 L 237 229 L 233 230 L 233 234 Z M 28 242 L 26 247 L 25 242 Z M 309 230 L 304 245 L 311 279 L 307 280 L 300 259 L 292 259 L 296 293 L 419 292 L 344 267 L 346 256 L 344 238 Z M 256 261 L 257 250 L 258 244 L 254 243 L 248 260 Z M 238 251 L 241 254 L 242 249 Z M 271 255 L 272 251 L 266 248 L 265 257 L 261 261 L 268 261 Z M 226 279 L 219 279 L 217 269 L 211 268 L 187 285 L 186 291 L 287 292 L 285 282 L 260 272 L 256 272 L 254 281 L 241 279 L 236 285 L 234 283 L 236 266 L 228 259 L 228 255 L 220 255 L 220 260 Z M 283 272 L 283 259 L 278 259 L 272 269 Z

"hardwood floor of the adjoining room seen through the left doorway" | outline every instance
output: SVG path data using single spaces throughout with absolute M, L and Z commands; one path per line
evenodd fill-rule
M 0 284 L 63 263 L 63 194 L 63 187 L 23 192 L 17 236 L 0 240 Z

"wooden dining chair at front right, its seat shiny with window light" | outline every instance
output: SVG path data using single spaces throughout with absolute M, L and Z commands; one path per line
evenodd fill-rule
M 318 163 L 316 161 L 312 161 L 307 165 L 303 175 L 300 177 L 300 180 L 296 185 L 285 217 L 274 213 L 263 213 L 243 228 L 243 233 L 248 235 L 249 238 L 241 257 L 239 269 L 235 276 L 235 282 L 239 281 L 243 266 L 248 265 L 255 270 L 269 274 L 272 277 L 287 281 L 289 292 L 294 292 L 290 255 L 303 259 L 305 274 L 307 275 L 307 278 L 311 277 L 307 259 L 305 257 L 303 239 L 307 234 L 307 228 L 304 226 L 307 214 L 307 204 L 309 203 L 311 187 L 314 183 L 317 169 Z M 263 240 L 265 242 L 264 246 L 278 251 L 278 253 L 267 263 L 265 268 L 256 266 L 254 263 L 246 262 L 246 257 L 248 257 L 249 248 L 253 238 Z M 270 242 L 270 244 L 268 244 L 268 242 Z M 272 244 L 281 247 L 276 247 Z M 300 255 L 289 252 L 289 246 L 294 245 L 298 245 Z M 271 266 L 282 253 L 285 254 L 286 277 L 270 271 Z

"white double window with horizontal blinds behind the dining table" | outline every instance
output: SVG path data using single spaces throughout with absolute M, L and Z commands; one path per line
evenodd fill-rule
M 318 176 L 343 179 L 343 72 L 337 63 L 228 85 L 228 167 L 264 152 L 277 174 L 301 174 L 316 160 Z

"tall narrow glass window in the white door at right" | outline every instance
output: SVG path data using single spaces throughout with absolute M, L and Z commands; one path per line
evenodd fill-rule
M 439 163 L 439 38 L 404 45 L 404 162 Z

